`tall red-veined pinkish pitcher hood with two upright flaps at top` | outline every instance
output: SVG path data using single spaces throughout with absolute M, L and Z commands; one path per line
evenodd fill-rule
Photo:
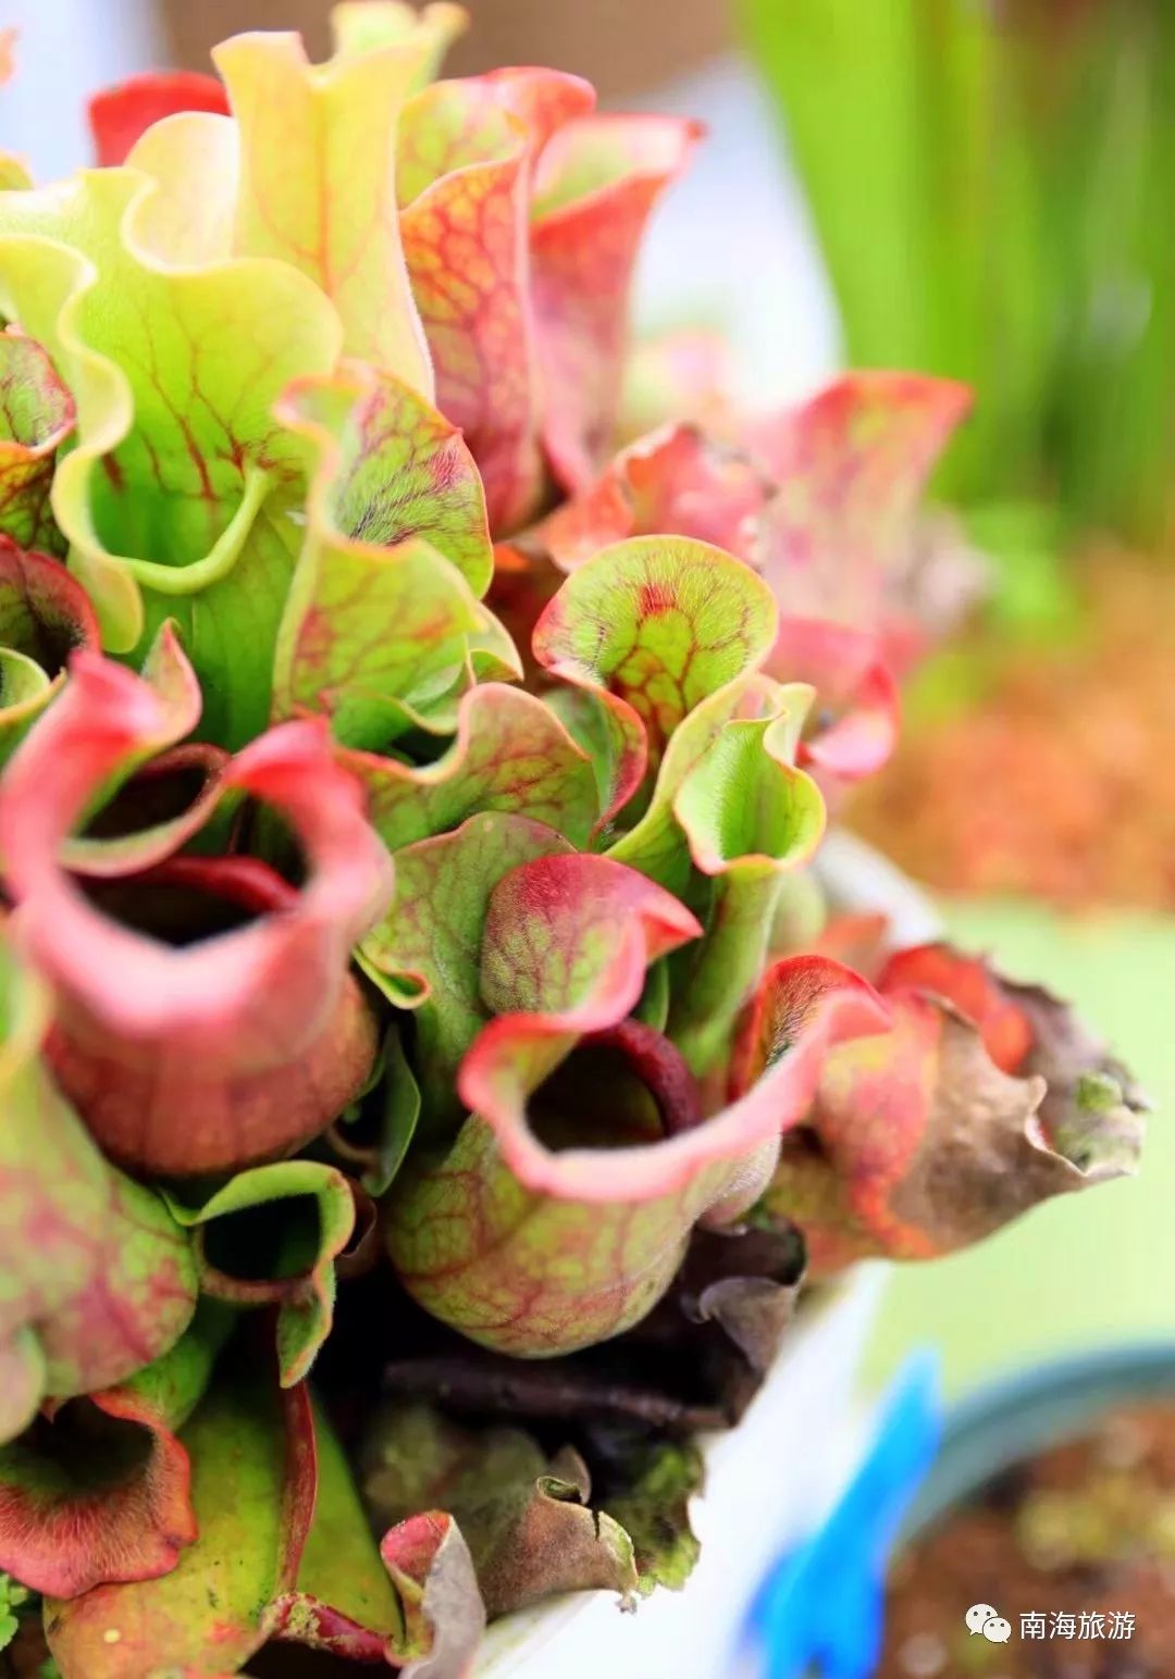
M 615 442 L 635 255 L 696 133 L 593 102 L 578 77 L 499 71 L 425 89 L 400 129 L 403 248 L 437 403 L 466 433 L 499 532 L 536 512 L 548 472 L 580 487 Z

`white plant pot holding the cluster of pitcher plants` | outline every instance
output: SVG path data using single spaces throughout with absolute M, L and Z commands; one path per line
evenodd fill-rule
M 925 895 L 852 834 L 830 834 L 819 866 L 839 908 L 884 913 L 896 942 L 940 935 Z M 486 1635 L 477 1679 L 730 1679 L 758 1582 L 819 1523 L 856 1461 L 857 1368 L 886 1271 L 857 1266 L 800 1313 L 740 1425 L 703 1439 L 701 1558 L 686 1588 L 654 1592 L 635 1614 L 612 1592 L 580 1592 L 506 1615 Z

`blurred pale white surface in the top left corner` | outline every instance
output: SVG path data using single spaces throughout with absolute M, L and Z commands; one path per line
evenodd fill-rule
M 0 87 L 0 149 L 24 158 L 35 181 L 91 161 L 89 94 L 166 62 L 150 0 L 0 0 L 0 25 L 18 32 L 17 74 Z

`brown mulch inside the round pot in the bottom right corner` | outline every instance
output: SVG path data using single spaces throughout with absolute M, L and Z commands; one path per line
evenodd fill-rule
M 1007 1642 L 992 1644 L 968 1630 L 965 1615 L 973 1603 L 990 1605 L 1010 1622 Z M 1133 1622 L 1114 1620 L 1116 1614 Z M 1025 1637 L 1020 1617 L 1029 1617 L 1030 1627 L 1042 1625 L 1044 1635 Z M 1118 1412 L 1093 1436 L 997 1478 L 891 1572 L 876 1679 L 1172 1674 L 1170 1404 Z

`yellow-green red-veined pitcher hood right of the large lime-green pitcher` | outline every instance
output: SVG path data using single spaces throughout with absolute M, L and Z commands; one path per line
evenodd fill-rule
M 461 433 L 370 369 L 303 381 L 279 413 L 318 465 L 277 714 L 328 710 L 340 740 L 380 747 L 402 709 L 452 688 L 469 638 L 493 628 L 476 599 L 493 566 L 481 480 Z

